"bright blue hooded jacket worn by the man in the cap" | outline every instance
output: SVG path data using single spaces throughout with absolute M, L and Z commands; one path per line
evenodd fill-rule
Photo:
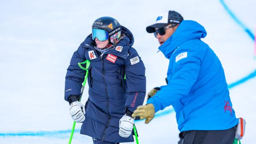
M 168 83 L 147 103 L 152 103 L 156 112 L 172 105 L 181 132 L 224 130 L 238 123 L 222 64 L 212 49 L 200 40 L 204 37 L 204 27 L 184 20 L 159 47 L 170 59 Z

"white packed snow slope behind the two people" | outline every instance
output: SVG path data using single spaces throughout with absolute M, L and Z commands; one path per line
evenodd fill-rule
M 255 0 L 225 0 L 234 15 L 255 32 Z M 203 39 L 222 61 L 229 84 L 256 71 L 254 41 L 219 0 L 70 1 L 24 0 L 0 2 L 0 144 L 67 144 L 73 121 L 64 101 L 64 77 L 73 52 L 91 33 L 98 17 L 115 17 L 135 37 L 142 57 L 147 91 L 165 84 L 168 60 L 145 27 L 158 13 L 180 12 L 207 30 Z M 252 76 L 251 76 L 252 77 Z M 254 144 L 256 77 L 230 88 L 237 117 L 246 119 L 243 144 Z M 88 88 L 86 87 L 85 91 Z M 82 102 L 88 95 L 84 93 Z M 135 122 L 140 144 L 176 144 L 175 112 L 167 107 L 149 124 Z M 92 144 L 76 131 L 72 144 Z M 135 142 L 133 143 L 135 144 Z

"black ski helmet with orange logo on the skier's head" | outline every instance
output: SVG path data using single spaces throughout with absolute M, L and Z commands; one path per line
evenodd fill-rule
M 100 17 L 92 24 L 92 29 L 103 29 L 108 32 L 108 41 L 115 44 L 121 37 L 121 25 L 113 17 Z M 94 39 L 93 39 L 94 40 Z

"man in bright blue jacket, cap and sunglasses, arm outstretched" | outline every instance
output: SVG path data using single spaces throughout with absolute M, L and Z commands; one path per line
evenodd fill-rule
M 148 123 L 155 112 L 172 105 L 181 132 L 178 144 L 231 144 L 238 120 L 222 64 L 200 40 L 206 37 L 204 27 L 168 11 L 146 30 L 154 33 L 159 50 L 170 60 L 167 85 L 151 90 L 147 105 L 137 107 L 132 116 Z

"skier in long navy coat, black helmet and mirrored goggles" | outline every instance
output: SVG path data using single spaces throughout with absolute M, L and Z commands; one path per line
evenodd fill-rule
M 133 34 L 112 17 L 100 17 L 92 34 L 74 52 L 66 73 L 65 100 L 81 134 L 94 144 L 133 142 L 131 117 L 146 92 L 145 67 L 133 46 Z M 85 71 L 79 62 L 90 60 L 89 99 L 79 102 Z M 124 79 L 126 77 L 126 79 Z

